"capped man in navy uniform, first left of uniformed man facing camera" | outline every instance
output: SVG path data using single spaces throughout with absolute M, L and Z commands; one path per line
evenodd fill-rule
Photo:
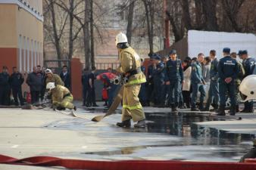
M 164 63 L 161 61 L 159 54 L 152 55 L 153 60 L 153 82 L 154 82 L 154 98 L 155 107 L 161 107 L 161 89 L 164 86 Z

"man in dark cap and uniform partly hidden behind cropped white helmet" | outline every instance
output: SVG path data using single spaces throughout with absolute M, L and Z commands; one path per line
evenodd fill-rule
M 255 59 L 248 56 L 248 51 L 240 51 L 241 57 L 242 57 L 242 66 L 244 66 L 245 69 L 245 76 L 249 76 L 254 74 L 254 68 L 255 68 Z M 243 113 L 253 113 L 253 101 L 245 101 L 245 108 L 241 111 Z

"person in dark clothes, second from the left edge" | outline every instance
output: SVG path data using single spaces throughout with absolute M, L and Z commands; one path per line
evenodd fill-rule
M 19 106 L 19 102 L 18 102 L 18 97 L 19 97 L 20 105 L 23 106 L 24 102 L 23 102 L 21 85 L 24 82 L 24 78 L 22 74 L 17 70 L 16 66 L 14 66 L 12 70 L 13 70 L 13 73 L 11 74 L 10 83 L 11 83 L 12 95 L 14 96 L 14 104 L 16 106 Z

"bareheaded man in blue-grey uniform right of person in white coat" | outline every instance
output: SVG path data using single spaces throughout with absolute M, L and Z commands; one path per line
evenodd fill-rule
M 192 72 L 191 72 L 191 85 L 192 85 L 192 100 L 191 100 L 191 111 L 199 111 L 195 107 L 197 101 L 198 91 L 200 91 L 200 106 L 199 109 L 203 109 L 205 90 L 204 90 L 204 78 L 202 75 L 201 63 L 204 60 L 204 54 L 199 53 L 197 60 L 192 62 Z

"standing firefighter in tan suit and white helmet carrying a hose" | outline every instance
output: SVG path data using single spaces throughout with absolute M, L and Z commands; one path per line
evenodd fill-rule
M 137 122 L 134 125 L 135 128 L 145 128 L 145 113 L 138 97 L 141 84 L 146 82 L 140 68 L 140 57 L 128 45 L 127 37 L 122 32 L 116 36 L 116 45 L 120 60 L 117 72 L 128 78 L 123 88 L 122 122 L 117 122 L 117 125 L 128 128 L 131 126 L 130 119 L 133 119 L 133 122 Z

